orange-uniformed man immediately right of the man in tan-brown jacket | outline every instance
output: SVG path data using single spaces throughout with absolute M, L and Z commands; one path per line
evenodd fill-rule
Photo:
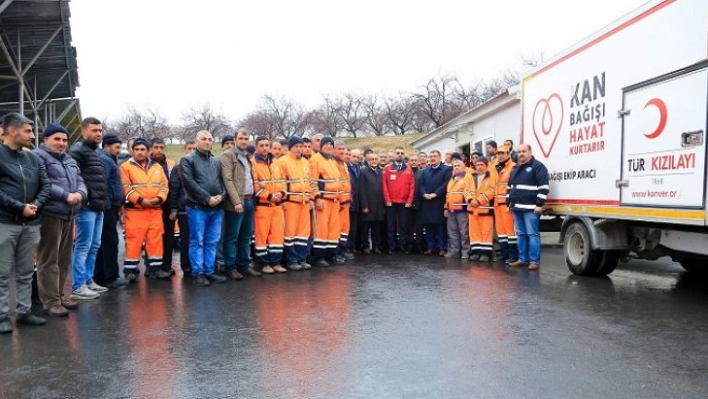
M 253 195 L 256 198 L 256 264 L 261 266 L 261 272 L 265 274 L 285 273 L 287 270 L 280 266 L 280 261 L 283 259 L 285 216 L 282 202 L 286 187 L 279 162 L 275 154 L 270 152 L 267 137 L 256 138 L 256 153 L 252 162 Z

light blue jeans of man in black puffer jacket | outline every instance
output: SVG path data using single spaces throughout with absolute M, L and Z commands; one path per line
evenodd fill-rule
M 74 277 L 71 289 L 91 284 L 96 269 L 96 255 L 101 247 L 103 212 L 82 209 L 76 217 L 76 241 L 71 259 Z

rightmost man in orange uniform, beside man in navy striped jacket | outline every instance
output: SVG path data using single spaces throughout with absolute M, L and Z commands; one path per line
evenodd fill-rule
M 519 249 L 516 246 L 516 232 L 514 230 L 514 215 L 509 212 L 506 192 L 509 186 L 511 170 L 516 166 L 511 160 L 509 148 L 502 146 L 497 150 L 497 164 L 494 172 L 497 175 L 496 193 L 494 194 L 494 224 L 497 237 L 499 237 L 500 262 L 507 264 L 519 259 Z

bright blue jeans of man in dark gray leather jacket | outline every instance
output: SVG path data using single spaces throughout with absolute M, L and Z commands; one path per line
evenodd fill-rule
M 192 275 L 214 274 L 216 243 L 221 238 L 223 209 L 197 209 L 187 207 L 189 220 L 189 262 Z

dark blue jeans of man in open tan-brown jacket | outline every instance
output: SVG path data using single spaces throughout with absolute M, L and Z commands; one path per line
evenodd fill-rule
M 243 200 L 243 212 L 226 211 L 224 216 L 224 270 L 245 271 L 251 267 L 253 200 Z

